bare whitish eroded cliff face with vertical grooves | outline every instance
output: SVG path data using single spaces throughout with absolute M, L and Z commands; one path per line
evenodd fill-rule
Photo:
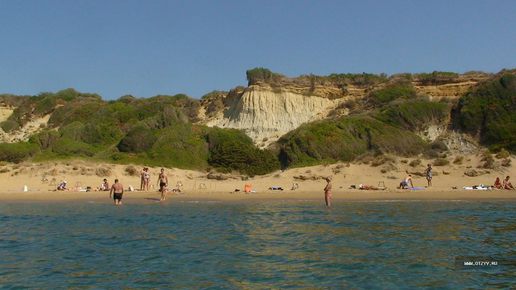
M 244 130 L 254 142 L 265 146 L 303 123 L 326 117 L 341 101 L 292 88 L 253 85 L 234 98 L 228 96 L 225 110 L 206 125 Z

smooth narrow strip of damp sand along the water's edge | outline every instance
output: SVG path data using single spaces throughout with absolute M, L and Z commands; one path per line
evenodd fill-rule
M 425 192 L 423 192 L 425 191 Z M 159 193 L 154 192 L 125 192 L 122 202 L 129 203 L 153 203 L 159 201 Z M 308 191 L 296 191 L 288 193 L 251 193 L 242 192 L 199 192 L 193 191 L 188 194 L 167 194 L 165 203 L 170 202 L 264 202 L 264 201 L 296 201 L 314 200 L 324 204 L 324 193 Z M 109 192 L 0 192 L 0 200 L 9 203 L 46 203 L 46 202 L 102 202 L 114 203 Z M 409 190 L 385 190 L 365 191 L 348 190 L 332 193 L 332 201 L 378 201 L 378 200 L 420 200 L 420 201 L 453 201 L 453 200 L 514 200 L 516 191 L 509 190 L 434 190 L 425 189 L 420 191 Z

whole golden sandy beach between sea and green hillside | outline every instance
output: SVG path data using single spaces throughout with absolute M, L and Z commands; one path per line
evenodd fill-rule
M 242 180 L 241 176 L 228 175 L 227 180 L 207 179 L 208 173 L 184 170 L 178 168 L 166 168 L 168 174 L 169 189 L 176 188 L 182 184 L 181 193 L 167 194 L 167 201 L 187 200 L 256 200 L 256 199 L 320 199 L 324 202 L 324 187 L 326 181 L 301 180 L 302 177 L 323 177 L 332 176 L 333 191 L 332 200 L 389 200 L 389 199 L 516 199 L 516 191 L 510 190 L 464 190 L 462 186 L 473 186 L 478 184 L 492 185 L 496 177 L 503 179 L 505 176 L 512 176 L 516 173 L 514 165 L 511 167 L 499 166 L 497 169 L 488 170 L 480 176 L 470 177 L 464 175 L 465 170 L 470 166 L 480 164 L 480 157 L 470 156 L 470 161 L 461 165 L 433 166 L 432 187 L 423 190 L 401 190 L 396 187 L 408 173 L 424 173 L 425 164 L 431 161 L 423 160 L 422 165 L 412 167 L 408 164 L 397 162 L 395 168 L 389 172 L 382 173 L 384 168 L 368 164 L 330 164 L 311 167 L 293 168 L 271 173 L 266 176 Z M 514 164 L 516 162 L 512 162 Z M 127 189 L 132 185 L 134 189 L 140 188 L 139 176 L 131 176 L 126 172 L 127 165 L 89 163 L 87 161 L 65 161 L 52 163 L 25 163 L 19 165 L 7 165 L 12 168 L 9 172 L 0 174 L 0 199 L 1 200 L 75 200 L 88 199 L 91 201 L 108 201 L 109 192 L 79 192 L 77 190 L 54 191 L 55 184 L 67 181 L 68 187 L 80 186 L 86 189 L 98 187 L 104 178 L 112 184 L 117 178 Z M 142 166 L 135 166 L 137 172 Z M 100 169 L 99 169 L 100 168 Z M 153 202 L 159 199 L 156 185 L 158 167 L 150 168 L 151 186 L 149 191 L 133 191 L 124 193 L 125 202 Z M 449 174 L 443 174 L 449 173 Z M 107 173 L 106 176 L 98 174 Z M 46 180 L 44 180 L 46 179 Z M 52 180 L 55 179 L 54 182 Z M 291 190 L 293 184 L 297 183 L 299 188 Z M 245 184 L 250 184 L 256 193 L 245 193 Z M 385 185 L 385 190 L 358 190 L 349 189 L 351 185 L 356 187 L 359 184 Z M 27 185 L 28 191 L 23 192 Z M 425 177 L 413 176 L 415 187 L 427 186 Z M 270 190 L 270 187 L 282 187 L 282 190 Z M 457 187 L 457 189 L 453 189 Z M 235 190 L 239 190 L 235 192 Z M 112 200 L 112 199 L 111 199 Z

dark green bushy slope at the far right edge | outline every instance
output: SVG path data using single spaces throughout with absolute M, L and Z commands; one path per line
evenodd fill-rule
M 481 84 L 460 97 L 454 111 L 455 124 L 494 151 L 506 148 L 516 152 L 516 77 L 504 74 Z

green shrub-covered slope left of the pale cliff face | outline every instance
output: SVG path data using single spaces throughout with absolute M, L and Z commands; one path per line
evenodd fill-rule
M 277 157 L 259 149 L 243 132 L 193 125 L 187 116 L 191 99 L 184 95 L 131 95 L 104 101 L 73 89 L 23 96 L 0 126 L 17 130 L 30 117 L 52 112 L 48 127 L 27 142 L 0 143 L 0 160 L 21 162 L 90 158 L 186 169 L 263 175 L 279 169 Z

